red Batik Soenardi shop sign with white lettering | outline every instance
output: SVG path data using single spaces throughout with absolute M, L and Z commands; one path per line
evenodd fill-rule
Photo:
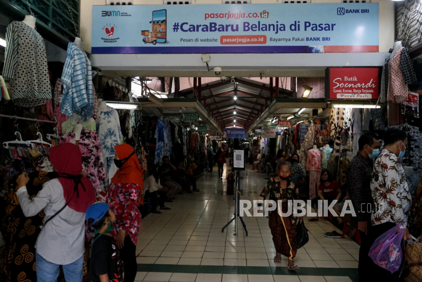
M 378 67 L 329 67 L 325 73 L 326 99 L 378 99 Z

